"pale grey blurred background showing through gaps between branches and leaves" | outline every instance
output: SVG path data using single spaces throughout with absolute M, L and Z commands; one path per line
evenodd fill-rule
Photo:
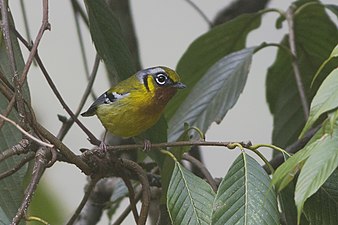
M 140 57 L 144 68 L 155 65 L 166 65 L 175 68 L 180 57 L 189 44 L 201 34 L 208 31 L 208 24 L 200 14 L 184 0 L 131 0 L 133 19 L 138 37 Z M 212 20 L 217 12 L 231 1 L 196 0 L 194 3 Z M 333 3 L 334 0 L 323 1 Z M 35 39 L 41 25 L 41 1 L 25 2 L 27 17 L 32 39 Z M 87 78 L 81 58 L 78 37 L 75 30 L 75 20 L 71 2 L 66 0 L 49 2 L 49 22 L 51 31 L 46 31 L 39 46 L 39 54 L 49 74 L 62 93 L 67 104 L 76 110 L 87 85 Z M 83 4 L 83 3 L 82 3 Z M 291 1 L 271 1 L 269 8 L 287 10 Z M 10 8 L 15 18 L 17 29 L 25 34 L 19 1 L 10 1 Z M 265 42 L 279 42 L 286 33 L 283 28 L 275 28 L 276 13 L 268 13 L 263 17 L 262 25 L 249 35 L 247 46 L 255 46 Z M 95 49 L 85 25 L 82 32 L 86 53 L 91 69 L 95 57 Z M 27 51 L 25 59 L 27 58 Z M 275 58 L 276 49 L 265 48 L 254 55 L 252 69 L 244 92 L 238 102 L 219 125 L 213 124 L 206 134 L 209 141 L 252 141 L 253 143 L 270 143 L 272 132 L 272 117 L 265 98 L 266 69 Z M 57 114 L 66 115 L 56 97 L 50 90 L 37 67 L 32 67 L 28 76 L 32 104 L 38 120 L 51 132 L 57 134 L 61 122 Z M 104 66 L 100 70 L 94 84 L 96 94 L 103 93 L 110 87 Z M 89 98 L 85 108 L 91 104 Z M 96 117 L 80 118 L 81 121 L 101 136 L 103 127 Z M 86 135 L 74 125 L 64 142 L 74 153 L 79 154 L 80 148 L 90 148 Z M 270 150 L 262 150 L 265 155 Z M 223 148 L 202 149 L 203 159 L 214 177 L 224 177 L 232 161 L 238 156 L 239 150 Z M 83 196 L 86 184 L 84 174 L 72 165 L 56 163 L 48 169 L 43 182 L 47 184 L 53 195 L 62 204 L 66 218 L 73 213 Z M 106 223 L 101 223 L 106 224 Z M 125 222 L 125 224 L 132 224 Z

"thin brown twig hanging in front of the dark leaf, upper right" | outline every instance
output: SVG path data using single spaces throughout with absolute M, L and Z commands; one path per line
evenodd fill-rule
M 309 103 L 308 103 L 308 100 L 305 94 L 304 84 L 302 81 L 299 64 L 297 61 L 298 58 L 297 58 L 297 49 L 296 49 L 296 38 L 295 38 L 295 31 L 293 27 L 294 9 L 295 9 L 295 5 L 291 5 L 286 12 L 286 21 L 289 27 L 289 45 L 290 45 L 290 50 L 292 52 L 291 64 L 292 64 L 293 73 L 294 73 L 296 84 L 297 84 L 297 89 L 298 89 L 299 96 L 300 96 L 300 101 L 303 107 L 304 117 L 305 117 L 305 120 L 307 120 L 307 118 L 309 117 Z

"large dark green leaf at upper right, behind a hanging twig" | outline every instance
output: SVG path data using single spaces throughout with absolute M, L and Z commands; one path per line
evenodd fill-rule
M 306 1 L 302 1 L 304 2 Z M 338 30 L 324 8 L 312 4 L 295 15 L 294 32 L 297 62 L 310 102 L 323 79 L 316 79 L 314 86 L 310 88 L 313 75 L 337 44 Z M 285 37 L 282 41 L 285 46 L 288 46 L 287 39 Z M 332 71 L 332 67 L 326 68 L 326 71 Z M 285 50 L 278 50 L 276 61 L 268 70 L 266 85 L 266 96 L 274 123 L 272 142 L 286 147 L 298 138 L 306 118 L 293 75 L 291 58 Z

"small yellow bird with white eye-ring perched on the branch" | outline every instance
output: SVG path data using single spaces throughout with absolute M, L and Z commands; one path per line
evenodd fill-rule
M 168 67 L 140 70 L 103 93 L 81 115 L 96 114 L 113 135 L 134 137 L 159 120 L 178 88 L 185 88 L 185 85 Z

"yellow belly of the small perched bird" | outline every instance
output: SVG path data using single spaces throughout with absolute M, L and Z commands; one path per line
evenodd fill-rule
M 161 113 L 146 110 L 145 107 L 111 104 L 98 107 L 97 116 L 113 135 L 133 137 L 152 127 L 160 118 Z

